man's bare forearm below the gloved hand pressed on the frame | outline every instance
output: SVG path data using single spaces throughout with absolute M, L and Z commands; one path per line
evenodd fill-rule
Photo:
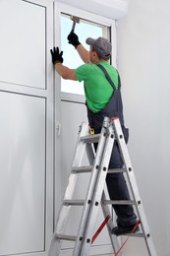
M 77 81 L 77 77 L 75 74 L 75 69 L 69 69 L 64 66 L 62 63 L 55 64 L 55 70 L 63 79 L 75 80 Z

